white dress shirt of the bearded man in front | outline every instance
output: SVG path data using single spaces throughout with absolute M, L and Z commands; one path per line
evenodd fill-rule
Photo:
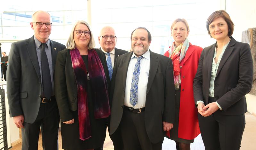
M 150 51 L 148 50 L 142 56 L 143 58 L 140 61 L 140 75 L 139 75 L 139 84 L 138 84 L 138 103 L 135 106 L 130 104 L 130 92 L 131 92 L 131 84 L 132 84 L 134 67 L 138 57 L 135 54 L 132 54 L 131 60 L 129 62 L 127 76 L 126 76 L 125 96 L 124 96 L 124 105 L 127 107 L 134 107 L 134 108 L 145 107 L 149 66 L 150 66 L 149 65 Z

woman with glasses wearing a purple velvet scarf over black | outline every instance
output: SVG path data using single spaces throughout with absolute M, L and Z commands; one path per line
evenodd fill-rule
M 55 95 L 65 150 L 99 148 L 105 139 L 110 81 L 105 54 L 94 47 L 88 23 L 77 21 L 67 49 L 57 55 Z

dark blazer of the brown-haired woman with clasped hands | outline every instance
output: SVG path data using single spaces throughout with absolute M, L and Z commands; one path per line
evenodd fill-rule
M 208 104 L 211 66 L 216 44 L 202 51 L 194 78 L 194 100 Z M 245 94 L 252 88 L 253 67 L 249 44 L 231 40 L 221 58 L 214 80 L 214 96 L 222 114 L 239 115 L 247 112 Z

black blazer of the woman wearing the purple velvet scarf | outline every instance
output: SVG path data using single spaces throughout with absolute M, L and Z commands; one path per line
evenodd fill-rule
M 108 86 L 110 85 L 108 67 L 105 54 L 95 49 L 106 75 Z M 71 111 L 77 110 L 77 83 L 72 67 L 70 49 L 65 49 L 58 53 L 55 67 L 55 96 L 58 104 L 61 122 L 69 121 L 73 117 Z

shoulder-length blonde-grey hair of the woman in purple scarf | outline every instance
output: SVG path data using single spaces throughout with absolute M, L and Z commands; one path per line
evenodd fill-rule
M 75 28 L 78 24 L 84 24 L 88 27 L 89 31 L 91 32 L 91 35 L 90 35 L 90 41 L 89 41 L 89 44 L 88 44 L 88 49 L 94 49 L 95 47 L 95 41 L 94 41 L 94 38 L 93 38 L 93 33 L 92 33 L 92 30 L 89 26 L 89 24 L 86 22 L 86 21 L 83 21 L 83 20 L 78 20 L 74 26 L 72 27 L 72 30 L 71 30 L 71 33 L 70 33 L 70 36 L 68 38 L 68 41 L 67 41 L 67 48 L 68 49 L 75 49 L 76 47 L 76 44 L 75 44 L 75 40 L 74 40 L 74 31 L 75 31 Z

